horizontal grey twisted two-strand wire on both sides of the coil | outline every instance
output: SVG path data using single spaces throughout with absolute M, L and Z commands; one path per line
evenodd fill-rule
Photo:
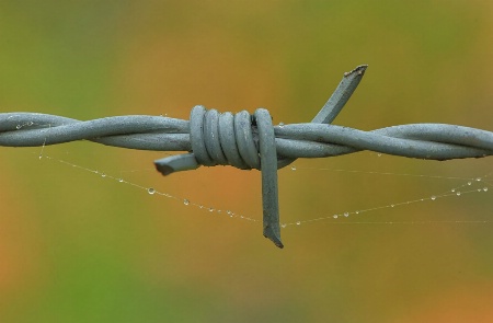
M 190 122 L 161 116 L 129 115 L 81 122 L 38 113 L 0 113 L 3 147 L 89 140 L 139 150 L 192 151 L 190 131 Z M 335 157 L 362 150 L 429 160 L 493 154 L 492 131 L 447 124 L 409 124 L 363 131 L 306 123 L 274 126 L 274 134 L 278 160 Z M 256 129 L 253 136 L 257 137 Z

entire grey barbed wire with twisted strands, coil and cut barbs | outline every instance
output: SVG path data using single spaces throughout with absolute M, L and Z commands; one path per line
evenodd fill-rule
M 1 113 L 0 146 L 44 147 L 89 140 L 157 151 L 188 151 L 154 161 L 163 175 L 200 165 L 232 165 L 262 171 L 264 237 L 283 247 L 277 169 L 297 158 L 325 158 L 370 150 L 428 160 L 493 154 L 493 132 L 447 124 L 409 124 L 363 131 L 331 125 L 362 80 L 367 66 L 344 77 L 311 123 L 276 125 L 267 109 L 253 115 L 195 106 L 190 120 L 128 115 L 93 120 L 39 114 Z

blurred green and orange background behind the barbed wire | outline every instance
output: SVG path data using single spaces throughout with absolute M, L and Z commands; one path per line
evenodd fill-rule
M 0 112 L 187 118 L 204 104 L 308 122 L 343 72 L 368 64 L 334 124 L 491 130 L 492 31 L 492 1 L 2 0 Z M 493 189 L 288 227 L 280 251 L 260 222 L 56 160 L 260 220 L 256 171 L 163 178 L 159 152 L 90 142 L 46 147 L 56 160 L 39 152 L 0 148 L 0 322 L 493 322 L 492 223 L 443 222 L 491 220 Z M 300 160 L 279 171 L 282 219 L 465 184 L 322 168 L 477 177 L 490 162 Z

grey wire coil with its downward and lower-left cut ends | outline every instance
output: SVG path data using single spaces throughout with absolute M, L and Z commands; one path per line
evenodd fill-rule
M 240 170 L 262 171 L 264 237 L 283 247 L 277 194 L 277 153 L 272 117 L 265 108 L 251 116 L 246 111 L 234 116 L 197 105 L 190 116 L 192 153 L 157 160 L 163 175 L 175 171 L 174 163 L 187 169 L 198 165 L 232 165 Z M 191 168 L 188 168 L 191 166 Z

